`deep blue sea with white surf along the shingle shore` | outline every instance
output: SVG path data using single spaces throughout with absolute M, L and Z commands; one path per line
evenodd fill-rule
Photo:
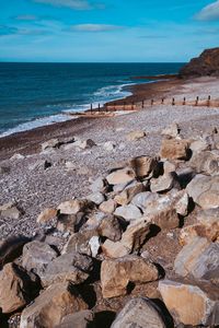
M 71 119 L 149 83 L 135 77 L 177 73 L 184 63 L 0 62 L 0 137 Z

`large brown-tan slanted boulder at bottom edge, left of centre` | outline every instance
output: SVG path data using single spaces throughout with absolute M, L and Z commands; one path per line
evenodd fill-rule
M 88 305 L 69 282 L 49 286 L 21 315 L 20 328 L 54 328 L 69 314 L 87 309 Z

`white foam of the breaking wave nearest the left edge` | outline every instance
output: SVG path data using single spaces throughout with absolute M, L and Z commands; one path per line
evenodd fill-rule
M 0 138 L 7 137 L 13 133 L 22 132 L 22 131 L 28 131 L 35 128 L 44 127 L 44 126 L 50 126 L 55 122 L 60 122 L 60 121 L 66 121 L 73 119 L 73 117 L 70 117 L 65 114 L 58 114 L 58 115 L 51 115 L 51 116 L 46 116 L 42 118 L 36 118 L 31 121 L 26 121 L 24 124 L 20 124 L 14 128 L 11 128 L 0 134 Z

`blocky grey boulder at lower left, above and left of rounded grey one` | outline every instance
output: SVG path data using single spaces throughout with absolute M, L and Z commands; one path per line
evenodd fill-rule
M 22 266 L 27 271 L 37 274 L 44 271 L 47 265 L 58 256 L 57 251 L 46 243 L 34 241 L 24 245 Z

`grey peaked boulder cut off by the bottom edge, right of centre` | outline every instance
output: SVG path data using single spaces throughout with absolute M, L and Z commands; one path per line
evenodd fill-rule
M 149 298 L 130 300 L 117 315 L 111 328 L 165 328 L 162 312 Z

